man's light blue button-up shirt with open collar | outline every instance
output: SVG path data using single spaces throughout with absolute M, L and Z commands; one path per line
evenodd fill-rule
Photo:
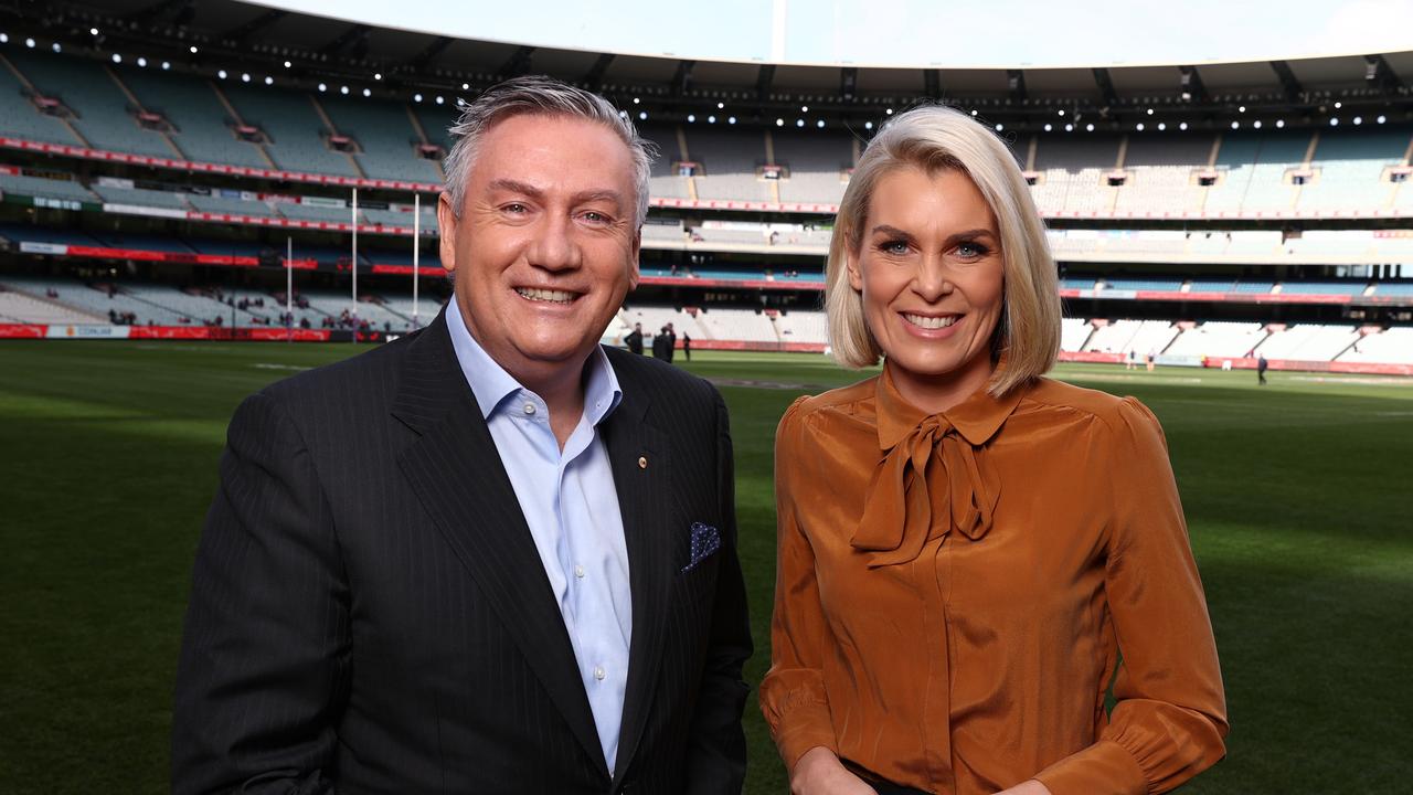
M 617 407 L 623 390 L 608 355 L 595 347 L 585 368 L 584 414 L 561 451 L 544 400 L 476 342 L 455 298 L 447 304 L 447 327 L 530 525 L 574 644 L 603 758 L 613 770 L 633 605 L 623 516 L 598 424 Z

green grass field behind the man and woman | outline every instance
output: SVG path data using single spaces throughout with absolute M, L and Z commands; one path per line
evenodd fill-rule
M 189 570 L 236 403 L 352 345 L 0 342 L 0 792 L 167 789 Z M 698 354 L 736 441 L 769 662 L 771 440 L 822 356 Z M 1064 366 L 1163 420 L 1207 584 L 1229 754 L 1186 792 L 1407 792 L 1413 381 Z M 786 792 L 752 697 L 746 791 Z

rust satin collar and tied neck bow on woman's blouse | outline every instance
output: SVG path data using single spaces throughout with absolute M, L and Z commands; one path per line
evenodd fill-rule
M 924 414 L 897 395 L 886 373 L 879 381 L 882 460 L 851 545 L 873 553 L 869 567 L 876 569 L 909 563 L 928 539 L 952 530 L 981 539 L 991 530 L 1000 497 L 1000 480 L 986 463 L 986 441 L 1019 396 L 996 400 L 978 392 L 944 414 Z

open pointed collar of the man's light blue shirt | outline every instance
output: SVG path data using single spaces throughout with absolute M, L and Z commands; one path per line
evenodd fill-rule
M 466 376 L 471 393 L 476 398 L 482 417 L 490 419 L 490 414 L 510 395 L 521 389 L 530 392 L 476 342 L 471 330 L 466 328 L 455 296 L 447 303 L 447 328 L 451 331 L 456 362 L 461 365 L 462 375 Z M 596 426 L 623 402 L 623 389 L 619 386 L 617 373 L 613 372 L 613 364 L 609 362 L 602 345 L 593 347 L 584 366 L 584 416 L 589 419 L 589 424 Z

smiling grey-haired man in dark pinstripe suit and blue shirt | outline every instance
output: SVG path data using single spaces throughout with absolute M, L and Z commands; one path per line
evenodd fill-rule
M 736 795 L 726 412 L 598 344 L 637 282 L 647 151 L 545 78 L 452 133 L 454 300 L 230 423 L 174 791 Z

